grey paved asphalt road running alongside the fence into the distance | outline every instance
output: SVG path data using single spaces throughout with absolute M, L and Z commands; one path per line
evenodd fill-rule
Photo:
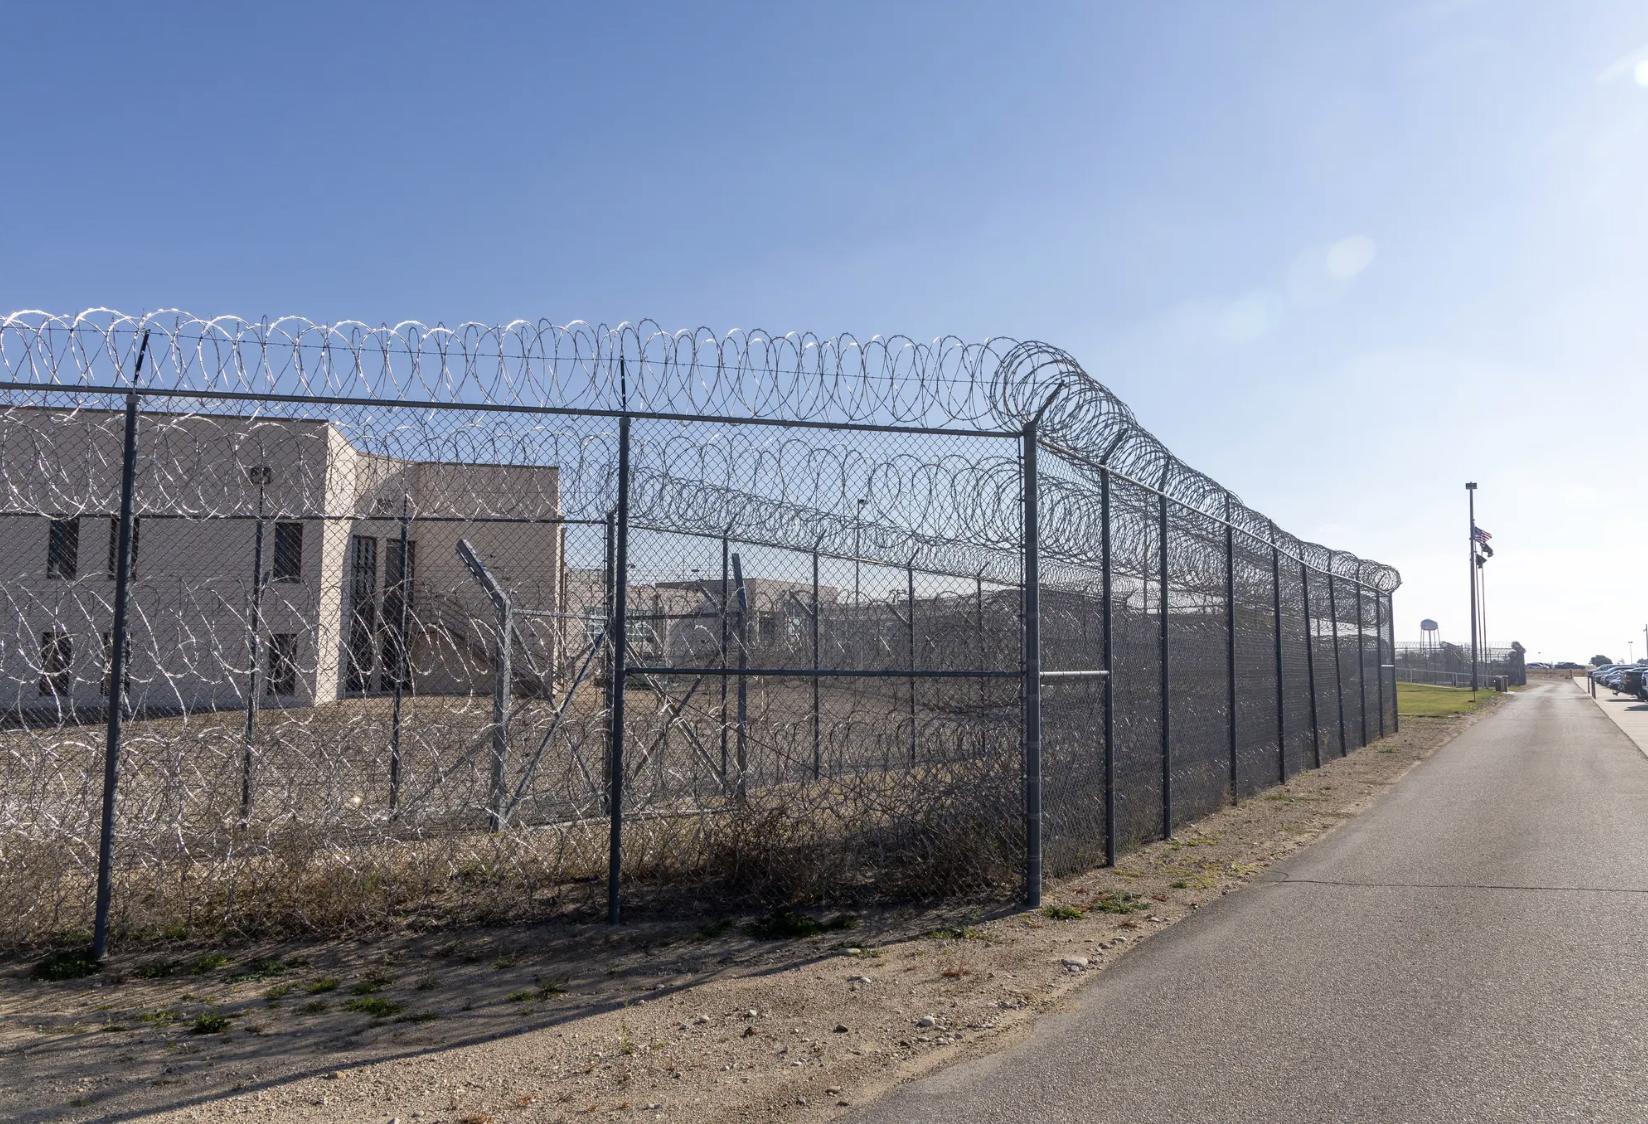
M 1648 1121 L 1648 760 L 1508 700 L 1012 1050 L 854 1121 Z

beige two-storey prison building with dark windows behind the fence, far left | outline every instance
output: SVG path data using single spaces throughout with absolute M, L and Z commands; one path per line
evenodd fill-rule
M 557 468 L 470 463 L 440 447 L 377 452 L 394 450 L 396 433 L 384 410 L 353 422 L 140 415 L 132 707 L 239 707 L 254 667 L 264 705 L 397 684 L 489 692 L 498 615 L 460 539 L 524 610 L 514 676 L 552 689 Z M 109 697 L 122 448 L 119 410 L 0 409 L 0 710 L 63 714 Z

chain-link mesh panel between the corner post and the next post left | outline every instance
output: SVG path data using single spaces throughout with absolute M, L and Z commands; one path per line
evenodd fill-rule
M 626 537 L 625 875 L 776 902 L 1014 887 L 1017 448 L 801 437 L 634 429 L 633 503 L 677 529 Z M 972 489 L 923 470 L 946 458 Z M 1000 547 L 957 550 L 964 524 Z

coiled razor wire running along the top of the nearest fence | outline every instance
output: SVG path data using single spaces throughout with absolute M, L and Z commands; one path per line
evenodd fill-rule
M 1386 565 L 1276 531 L 1218 481 L 1193 470 L 1068 353 L 1035 341 L 707 328 L 547 320 L 456 326 L 316 323 L 109 308 L 0 316 L 0 382 L 30 391 L 127 391 L 147 340 L 145 394 L 374 407 L 531 410 L 593 417 L 722 420 L 803 429 L 936 435 L 1022 432 L 1101 471 L 1150 481 L 1162 496 L 1277 541 L 1313 569 L 1391 592 Z M 1058 527 L 1060 519 L 1050 521 Z M 1084 518 L 1070 518 L 1074 529 Z M 1058 534 L 1055 531 L 1055 534 Z M 1073 541 L 1073 550 L 1083 546 Z

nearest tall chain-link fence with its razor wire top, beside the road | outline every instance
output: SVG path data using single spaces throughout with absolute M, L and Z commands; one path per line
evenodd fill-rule
M 0 943 L 1005 897 L 1394 727 L 1045 344 L 0 321 Z

